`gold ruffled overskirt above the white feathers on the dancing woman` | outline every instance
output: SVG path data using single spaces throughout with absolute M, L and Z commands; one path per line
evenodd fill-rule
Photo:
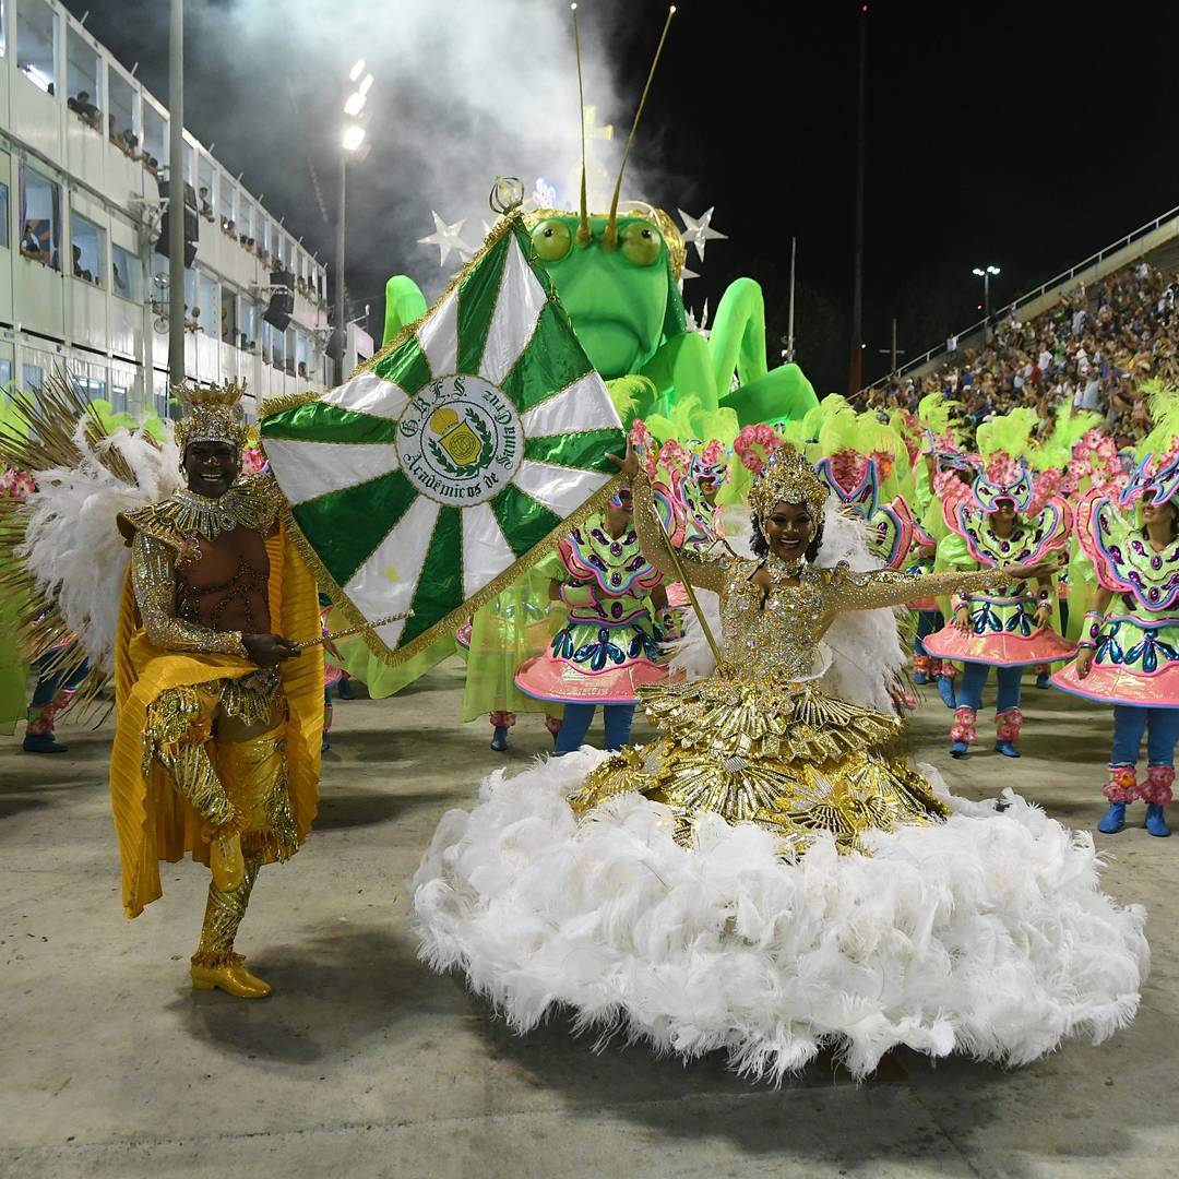
M 602 762 L 569 797 L 579 816 L 637 791 L 671 808 L 680 843 L 713 812 L 769 828 L 802 852 L 823 831 L 841 851 L 863 851 L 865 831 L 948 815 L 909 764 L 897 717 L 812 684 L 724 672 L 639 694 L 659 737 Z

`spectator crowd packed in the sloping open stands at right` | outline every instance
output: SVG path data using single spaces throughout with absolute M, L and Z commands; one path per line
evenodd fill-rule
M 1045 422 L 1069 400 L 1105 414 L 1105 429 L 1131 446 L 1150 429 L 1139 386 L 1179 381 L 1179 274 L 1139 262 L 1095 289 L 1072 291 L 1034 321 L 1005 320 L 977 348 L 950 353 L 936 373 L 890 377 L 867 391 L 877 409 L 915 410 L 928 393 L 959 402 L 971 424 L 1015 406 L 1034 406 Z

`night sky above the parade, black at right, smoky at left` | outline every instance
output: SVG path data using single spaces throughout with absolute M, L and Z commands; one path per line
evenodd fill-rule
M 562 0 L 536 7 L 554 2 L 567 7 Z M 68 7 L 78 15 L 92 7 L 87 27 L 125 64 L 138 60 L 140 77 L 166 100 L 164 0 Z M 206 4 L 197 19 L 235 7 Z M 582 2 L 584 20 L 594 7 Z M 637 101 L 666 5 L 597 7 L 599 19 L 608 17 L 619 90 L 633 88 Z M 391 0 L 381 11 L 396 8 Z M 436 8 L 443 44 L 446 0 Z M 797 235 L 798 360 L 821 394 L 847 386 L 861 19 L 861 5 L 844 0 L 684 0 L 635 146 L 645 174 L 656 177 L 648 196 L 668 211 L 698 215 L 716 205 L 713 226 L 730 236 L 709 243 L 703 268 L 690 261 L 703 277 L 687 283 L 689 304 L 699 309 L 707 297 L 714 305 L 740 275 L 758 279 L 771 348 L 786 330 Z M 893 316 L 910 355 L 980 317 L 973 266 L 1002 268 L 993 286 L 993 304 L 1001 305 L 1179 204 L 1173 8 L 881 0 L 867 19 L 865 378 L 888 367 L 877 349 L 888 347 Z M 251 191 L 264 191 L 268 208 L 330 259 L 324 212 L 334 211 L 335 127 L 330 105 L 315 99 L 323 90 L 317 60 L 286 52 L 281 22 L 268 33 L 272 54 L 261 58 L 215 44 L 193 24 L 187 125 L 204 143 L 216 141 L 217 157 L 244 169 Z M 521 52 L 567 52 L 529 45 L 527 32 Z M 332 33 L 323 29 L 320 52 L 335 68 L 356 47 L 334 42 Z M 414 85 L 427 87 L 429 71 Z M 285 145 L 282 152 L 259 156 L 251 121 L 258 110 L 266 112 L 268 143 Z M 401 95 L 397 118 L 413 117 L 414 103 Z M 395 146 L 395 121 L 386 134 Z M 421 277 L 430 264 L 422 248 L 404 244 L 429 231 L 428 208 L 413 210 L 410 231 L 408 211 L 383 208 L 381 197 L 356 177 L 349 295 L 373 304 L 376 334 L 384 279 L 399 270 Z M 436 258 L 435 251 L 435 270 Z

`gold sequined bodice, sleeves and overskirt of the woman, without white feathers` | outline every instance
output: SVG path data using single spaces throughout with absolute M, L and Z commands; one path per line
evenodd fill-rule
M 634 498 L 644 549 L 661 553 L 657 565 L 672 577 L 665 546 L 644 523 L 652 519 L 645 480 Z M 811 680 L 837 613 L 896 606 L 922 592 L 982 590 L 990 571 L 918 579 L 806 567 L 797 586 L 766 593 L 752 580 L 763 561 L 681 554 L 681 562 L 693 585 L 720 595 L 723 661 L 712 677 L 640 691 L 658 739 L 599 766 L 571 798 L 575 811 L 638 791 L 671 806 L 681 842 L 691 842 L 697 817 L 707 812 L 771 828 L 792 850 L 829 831 L 844 851 L 859 849 L 867 831 L 944 815 L 907 764 L 903 723 L 836 700 Z

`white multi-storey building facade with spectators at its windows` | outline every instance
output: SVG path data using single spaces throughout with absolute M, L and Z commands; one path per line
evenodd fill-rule
M 185 369 L 263 397 L 331 374 L 327 268 L 184 132 L 197 193 L 185 271 Z M 35 390 L 65 367 L 132 413 L 167 403 L 169 262 L 159 179 L 169 116 L 132 72 L 53 0 L 0 0 L 0 387 Z M 165 241 L 166 246 L 166 241 Z M 290 276 L 283 330 L 263 320 Z

